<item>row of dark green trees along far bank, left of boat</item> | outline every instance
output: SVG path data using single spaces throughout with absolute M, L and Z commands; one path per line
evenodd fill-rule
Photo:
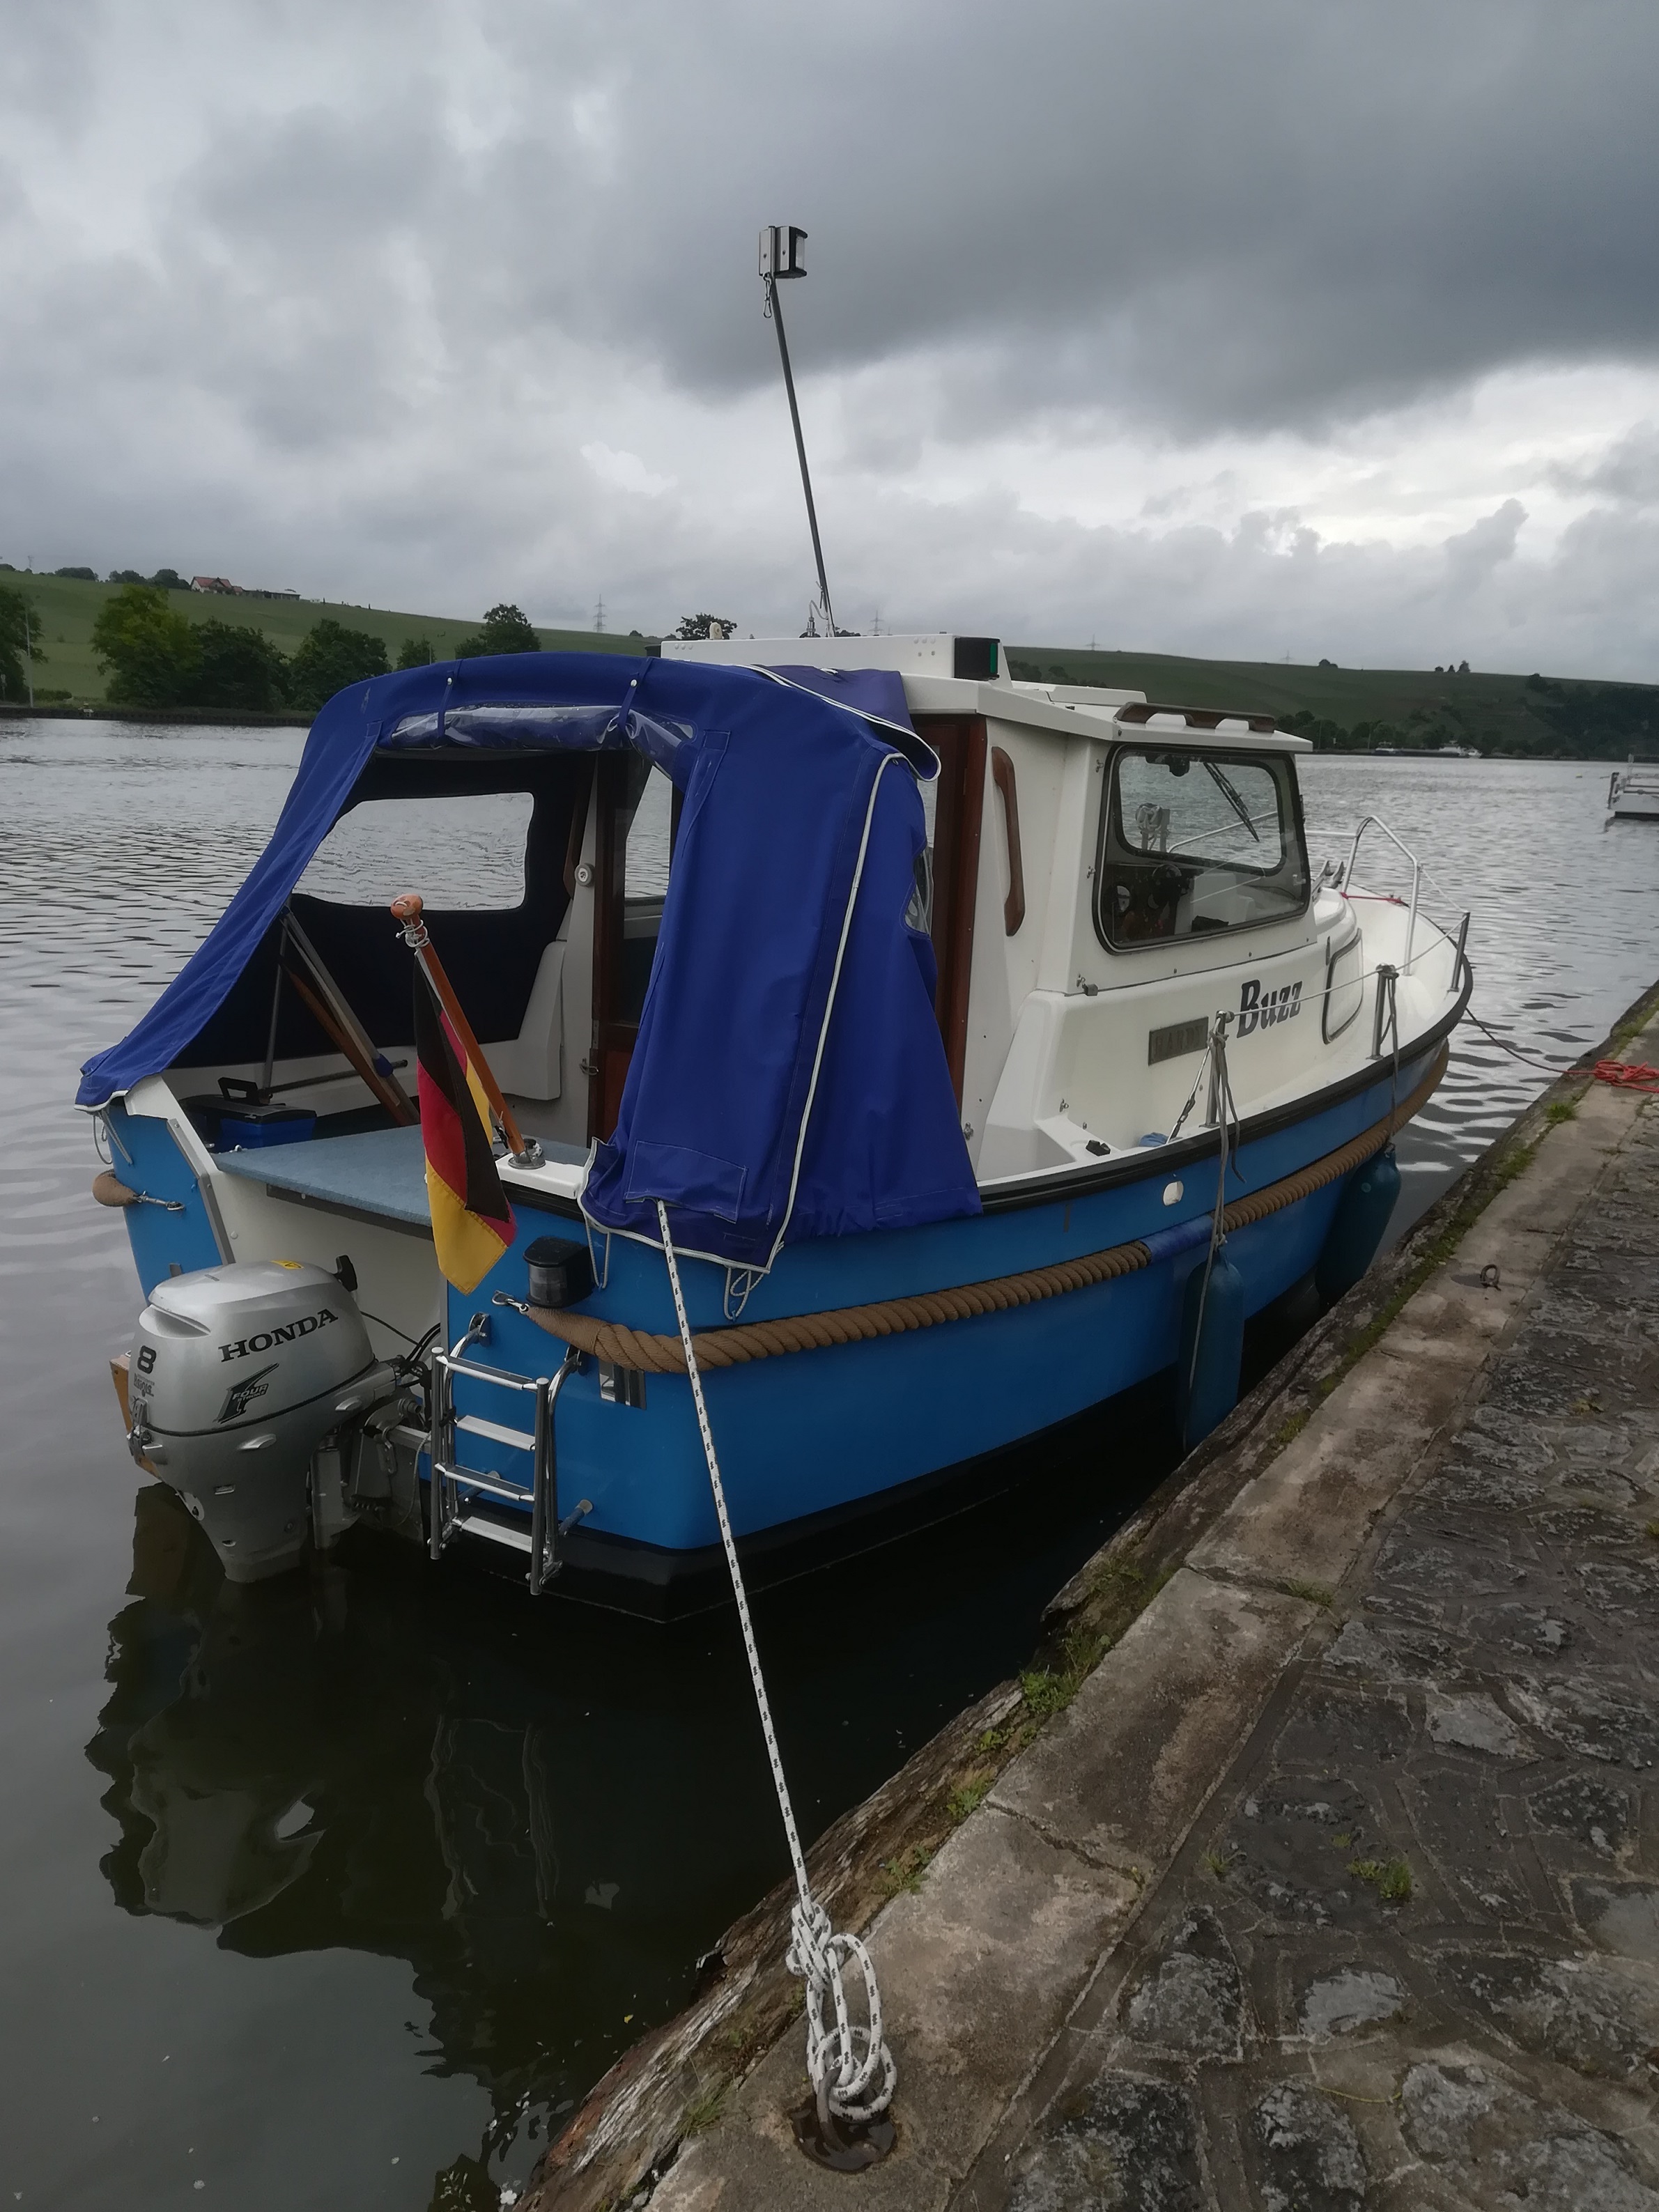
M 502 602 L 445 659 L 540 650 L 542 639 L 522 608 Z M 252 624 L 190 622 L 168 606 L 166 588 L 155 584 L 126 584 L 104 604 L 93 624 L 93 653 L 111 706 L 232 708 L 243 714 L 276 714 L 283 708 L 314 714 L 336 690 L 383 677 L 394 666 L 383 637 L 332 615 L 314 622 L 294 650 L 283 653 Z M 434 659 L 429 637 L 405 637 L 396 666 L 425 668 Z

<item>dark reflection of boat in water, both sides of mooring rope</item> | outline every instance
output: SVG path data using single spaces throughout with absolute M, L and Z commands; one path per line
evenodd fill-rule
M 1084 1422 L 1048 1447 L 1024 1495 L 818 1577 L 812 1608 L 792 1588 L 759 1599 L 807 1834 L 1024 1661 L 1046 1597 L 1133 1502 L 1102 1467 L 1121 1453 L 1155 1480 L 1168 1433 L 1146 1391 L 1110 1436 Z M 734 1619 L 529 1606 L 491 1564 L 434 1573 L 354 1531 L 307 1573 L 237 1586 L 146 1484 L 86 1745 L 128 1913 L 246 1958 L 409 1962 L 427 2070 L 491 2106 L 453 2203 L 522 2177 L 785 1871 Z

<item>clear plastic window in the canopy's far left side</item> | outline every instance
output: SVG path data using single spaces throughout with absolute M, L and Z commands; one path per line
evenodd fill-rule
M 299 878 L 312 898 L 385 907 L 420 891 L 431 911 L 524 905 L 531 792 L 369 799 L 334 823 Z

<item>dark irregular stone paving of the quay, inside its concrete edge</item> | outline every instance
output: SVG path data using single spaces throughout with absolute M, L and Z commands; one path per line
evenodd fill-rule
M 953 2203 L 1659 2212 L 1659 1124 L 1586 1104 L 1482 1400 Z

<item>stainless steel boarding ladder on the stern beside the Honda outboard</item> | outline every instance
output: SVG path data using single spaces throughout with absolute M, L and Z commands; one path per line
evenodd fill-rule
M 442 1548 L 451 1535 L 480 1535 L 491 1544 L 526 1551 L 531 1555 L 531 1597 L 538 1597 L 544 1584 L 564 1566 L 560 1557 L 562 1537 L 575 1528 L 584 1513 L 593 1513 L 593 1500 L 582 1498 L 560 1520 L 560 1471 L 553 1438 L 553 1409 L 566 1378 L 580 1367 L 582 1356 L 571 1349 L 564 1354 L 564 1365 L 555 1376 L 535 1376 L 531 1380 L 529 1376 L 507 1374 L 504 1367 L 484 1367 L 478 1360 L 465 1358 L 480 1343 L 489 1343 L 489 1314 L 473 1314 L 467 1334 L 449 1352 L 431 1354 L 431 1515 L 427 1544 L 434 1559 L 442 1557 Z M 504 1422 L 484 1420 L 480 1413 L 456 1413 L 456 1376 L 535 1398 L 535 1427 L 509 1429 Z M 460 1467 L 456 1460 L 456 1431 L 531 1453 L 535 1473 L 529 1493 L 529 1535 L 518 1526 L 467 1511 L 473 1495 L 522 1509 L 524 1491 L 518 1482 L 504 1482 L 493 1469 L 482 1473 L 476 1467 Z

